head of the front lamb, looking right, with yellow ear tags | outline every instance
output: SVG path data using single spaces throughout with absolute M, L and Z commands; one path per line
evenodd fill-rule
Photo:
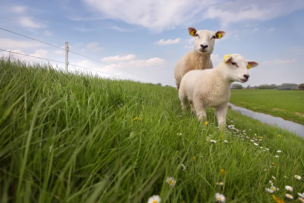
M 224 75 L 227 79 L 233 82 L 245 83 L 250 75 L 248 69 L 258 65 L 254 60 L 246 60 L 240 54 L 227 54 L 224 56 L 225 63 Z

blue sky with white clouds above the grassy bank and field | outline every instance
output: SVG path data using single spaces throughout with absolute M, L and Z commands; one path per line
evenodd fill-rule
M 1 28 L 62 48 L 68 42 L 70 51 L 100 61 L 69 53 L 69 71 L 85 71 L 74 64 L 175 87 L 174 67 L 194 49 L 187 28 L 195 27 L 226 32 L 215 42 L 213 66 L 228 53 L 259 62 L 243 86 L 304 83 L 303 0 L 0 0 L 0 4 Z M 64 50 L 4 30 L 0 49 L 65 60 Z M 3 55 L 8 53 L 0 51 Z

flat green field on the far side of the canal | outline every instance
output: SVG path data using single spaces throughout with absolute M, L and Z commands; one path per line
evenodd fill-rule
M 304 91 L 232 89 L 230 103 L 304 124 Z

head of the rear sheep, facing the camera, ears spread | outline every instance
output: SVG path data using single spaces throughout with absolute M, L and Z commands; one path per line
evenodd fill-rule
M 188 27 L 189 34 L 194 37 L 194 50 L 199 54 L 211 54 L 214 49 L 215 39 L 220 39 L 225 35 L 225 31 L 216 32 L 210 30 L 196 30 Z

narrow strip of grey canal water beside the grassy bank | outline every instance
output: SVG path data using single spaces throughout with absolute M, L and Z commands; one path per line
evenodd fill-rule
M 294 132 L 298 134 L 301 137 L 304 137 L 304 125 L 294 123 L 292 121 L 284 120 L 283 118 L 274 117 L 268 114 L 263 114 L 259 112 L 253 112 L 251 110 L 237 107 L 233 104 L 230 104 L 232 107 L 232 110 L 237 111 L 243 115 L 249 116 L 251 118 L 254 118 L 256 120 L 261 121 L 262 123 L 270 124 L 270 125 L 277 125 L 278 127 L 288 129 L 291 132 Z

